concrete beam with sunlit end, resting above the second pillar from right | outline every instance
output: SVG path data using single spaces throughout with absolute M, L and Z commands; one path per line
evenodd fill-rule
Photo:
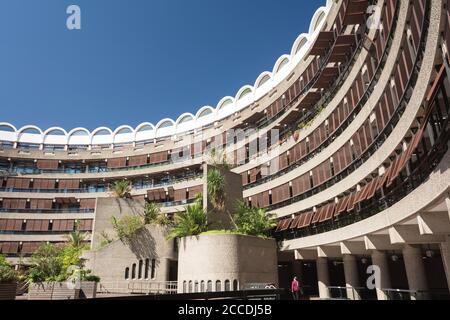
M 391 244 L 431 244 L 445 241 L 442 235 L 421 235 L 416 226 L 395 226 L 389 228 Z

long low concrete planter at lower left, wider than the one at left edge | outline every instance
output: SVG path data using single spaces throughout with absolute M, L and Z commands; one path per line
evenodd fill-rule
M 96 282 L 82 282 L 76 289 L 69 288 L 66 282 L 33 283 L 28 290 L 28 300 L 92 299 L 96 295 Z

